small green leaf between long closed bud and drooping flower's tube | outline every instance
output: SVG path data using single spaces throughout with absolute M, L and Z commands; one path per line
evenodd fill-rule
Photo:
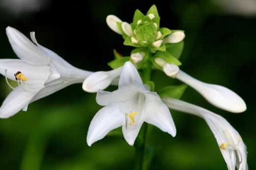
M 187 85 L 185 85 L 185 84 L 171 85 L 171 86 L 167 86 L 167 87 L 163 88 L 162 90 L 157 92 L 157 94 L 161 98 L 170 97 L 170 98 L 174 98 L 174 99 L 180 99 L 180 97 L 182 96 L 182 94 L 184 93 L 186 88 L 187 88 Z

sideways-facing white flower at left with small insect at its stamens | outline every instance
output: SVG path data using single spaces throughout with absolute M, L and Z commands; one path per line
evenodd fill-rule
M 6 28 L 12 49 L 20 59 L 0 59 L 0 73 L 8 79 L 17 81 L 18 86 L 6 97 L 0 108 L 0 118 L 8 118 L 29 103 L 48 96 L 68 85 L 83 82 L 91 74 L 73 67 L 54 52 L 39 45 L 35 33 L 31 42 L 20 31 Z M 8 78 L 8 79 L 7 79 Z

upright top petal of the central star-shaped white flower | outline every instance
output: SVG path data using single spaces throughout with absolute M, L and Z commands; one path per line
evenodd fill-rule
M 137 87 L 145 89 L 143 86 L 143 82 L 140 78 L 140 74 L 131 62 L 125 62 L 125 65 L 120 75 L 118 86 L 119 88 L 122 88 L 127 85 L 135 85 Z

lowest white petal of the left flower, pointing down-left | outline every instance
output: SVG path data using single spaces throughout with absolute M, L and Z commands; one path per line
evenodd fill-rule
M 15 89 L 3 101 L 0 108 L 0 118 L 9 118 L 18 113 L 22 108 L 26 107 L 36 94 L 36 92 L 23 91 L 20 87 Z

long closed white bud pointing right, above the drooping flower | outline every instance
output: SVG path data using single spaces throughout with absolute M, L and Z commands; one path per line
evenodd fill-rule
M 201 82 L 190 77 L 183 71 L 179 71 L 176 78 L 190 85 L 197 90 L 212 105 L 233 113 L 240 113 L 246 110 L 243 99 L 235 92 L 220 85 L 212 85 Z

